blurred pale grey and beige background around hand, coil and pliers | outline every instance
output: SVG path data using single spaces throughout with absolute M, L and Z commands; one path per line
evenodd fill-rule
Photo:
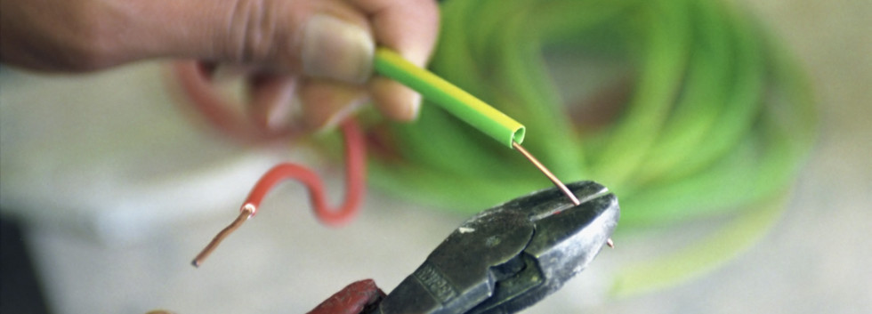
M 819 105 L 818 138 L 787 211 L 705 276 L 616 297 L 622 266 L 722 224 L 621 236 L 525 313 L 872 312 L 872 3 L 737 5 L 797 57 Z M 371 189 L 356 221 L 330 229 L 289 183 L 194 269 L 190 259 L 271 165 L 304 161 L 335 201 L 342 170 L 309 146 L 243 146 L 205 131 L 170 77 L 159 63 L 85 76 L 2 68 L 0 311 L 301 313 L 362 278 L 391 290 L 468 217 Z

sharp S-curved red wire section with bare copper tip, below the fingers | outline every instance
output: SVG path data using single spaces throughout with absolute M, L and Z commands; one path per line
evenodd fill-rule
M 345 141 L 345 199 L 342 205 L 331 208 L 327 204 L 324 183 L 318 173 L 314 173 L 301 165 L 276 165 L 264 173 L 261 179 L 254 184 L 254 188 L 246 197 L 236 220 L 218 232 L 218 235 L 206 245 L 200 254 L 197 254 L 191 264 L 199 267 L 206 261 L 209 254 L 212 254 L 224 238 L 230 236 L 230 233 L 238 229 L 242 223 L 254 217 L 263 197 L 266 197 L 266 194 L 282 181 L 300 181 L 309 189 L 312 209 L 319 221 L 331 226 L 339 226 L 351 221 L 358 212 L 366 188 L 364 183 L 367 170 L 366 147 L 360 127 L 353 119 L 343 123 L 342 133 Z

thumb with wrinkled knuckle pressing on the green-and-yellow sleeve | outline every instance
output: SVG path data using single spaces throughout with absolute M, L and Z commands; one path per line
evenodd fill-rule
M 155 41 L 156 54 L 348 83 L 363 83 L 372 72 L 375 42 L 367 18 L 343 0 L 145 3 L 155 14 L 143 13 L 140 19 L 152 19 L 150 29 L 166 36 Z

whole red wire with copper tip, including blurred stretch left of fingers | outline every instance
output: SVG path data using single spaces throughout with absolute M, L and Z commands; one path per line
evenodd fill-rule
M 222 101 L 222 97 L 209 84 L 210 71 L 203 63 L 177 62 L 174 65 L 174 74 L 179 79 L 183 91 L 188 94 L 190 104 L 206 117 L 207 122 L 223 133 L 246 140 L 264 140 L 293 134 L 290 128 L 279 132 L 266 132 L 262 128 L 246 126 L 241 119 L 234 117 L 227 109 L 227 103 Z M 194 266 L 199 266 L 224 238 L 253 217 L 263 197 L 266 197 L 270 190 L 282 181 L 300 181 L 309 189 L 311 206 L 319 221 L 331 226 L 339 226 L 351 221 L 358 213 L 366 191 L 364 183 L 367 173 L 366 141 L 355 120 L 348 119 L 340 127 L 345 141 L 345 199 L 341 205 L 332 208 L 327 204 L 324 183 L 318 173 L 302 165 L 290 163 L 276 165 L 254 184 L 254 188 L 241 206 L 237 219 L 230 223 L 230 226 L 222 229 L 197 255 L 193 261 Z

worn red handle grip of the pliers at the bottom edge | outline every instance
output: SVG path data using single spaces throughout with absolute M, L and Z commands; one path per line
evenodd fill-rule
M 384 292 L 375 286 L 373 279 L 364 279 L 330 296 L 309 314 L 360 314 L 366 313 L 378 306 L 384 298 Z

